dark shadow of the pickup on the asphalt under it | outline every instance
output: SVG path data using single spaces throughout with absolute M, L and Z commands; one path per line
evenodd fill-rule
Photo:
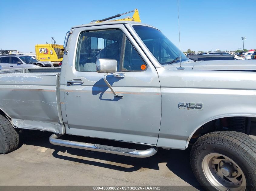
M 189 164 L 190 148 L 186 150 L 165 150 L 158 149 L 158 152 L 148 158 L 133 158 L 115 154 L 101 153 L 96 151 L 86 151 L 77 148 L 68 148 L 57 145 L 52 145 L 49 142 L 51 132 L 41 132 L 37 130 L 24 130 L 20 136 L 20 145 L 34 145 L 53 149 L 52 156 L 62 160 L 73 161 L 81 164 L 88 164 L 98 167 L 104 167 L 113 170 L 124 172 L 134 172 L 141 170 L 141 168 L 159 170 L 159 163 L 167 163 L 168 169 L 180 177 L 185 182 L 194 186 L 196 189 L 203 190 L 194 177 Z M 102 145 L 111 145 L 125 148 L 147 149 L 146 145 L 136 145 L 132 143 L 116 142 L 111 140 L 102 140 L 97 138 L 87 138 L 75 135 L 63 135 L 60 137 L 65 140 L 73 140 L 79 142 L 97 143 Z M 68 153 L 68 156 L 66 156 Z M 86 160 L 86 158 L 95 159 L 98 161 Z M 107 162 L 100 162 L 100 160 Z

